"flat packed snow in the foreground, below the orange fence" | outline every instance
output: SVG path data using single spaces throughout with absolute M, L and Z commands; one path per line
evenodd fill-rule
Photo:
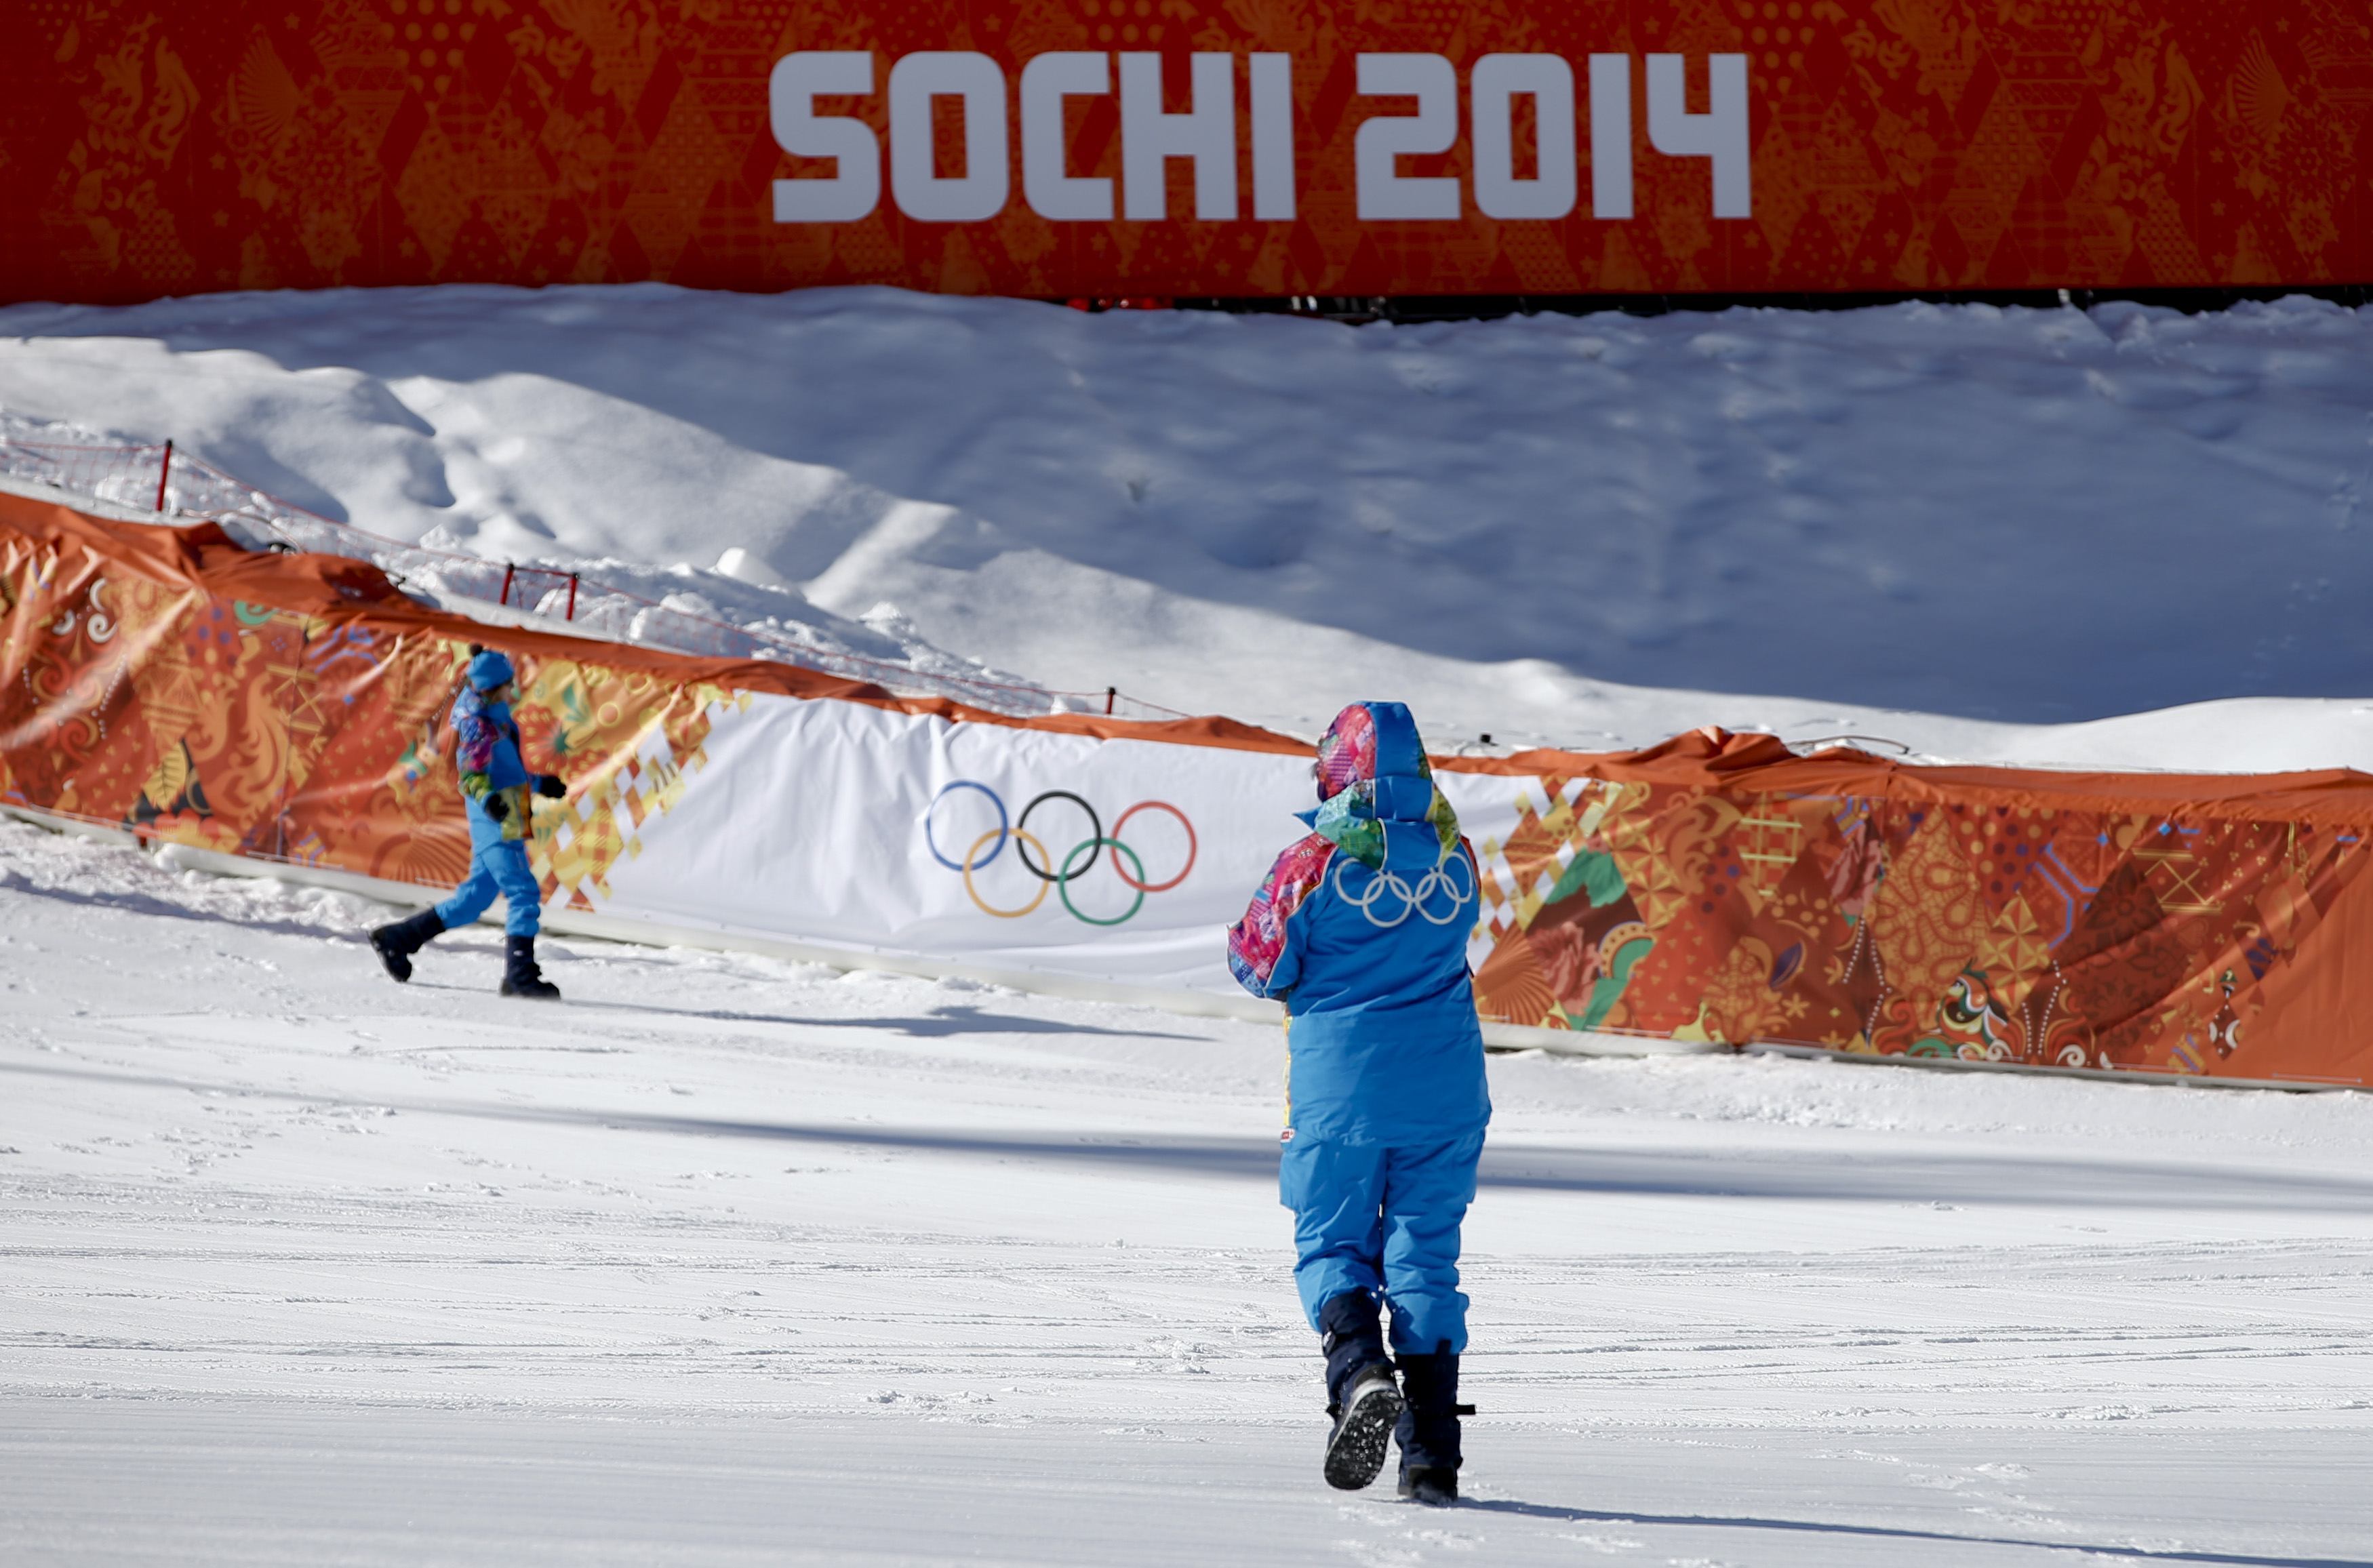
M 2373 1561 L 2373 1098 L 1490 1063 L 1467 1502 L 1319 1480 L 1277 1032 L 0 823 L 0 1561 Z

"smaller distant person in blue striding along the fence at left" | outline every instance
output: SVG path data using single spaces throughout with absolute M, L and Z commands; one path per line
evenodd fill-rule
M 560 987 L 536 968 L 543 890 L 527 866 L 527 835 L 534 830 L 529 792 L 560 799 L 567 785 L 551 773 L 529 773 L 520 761 L 520 726 L 510 719 L 515 695 L 510 659 L 491 648 L 475 650 L 467 686 L 453 700 L 460 792 L 470 811 L 470 875 L 444 904 L 370 932 L 370 946 L 389 975 L 411 980 L 413 954 L 430 937 L 477 920 L 501 897 L 508 935 L 503 996 L 558 1001 Z

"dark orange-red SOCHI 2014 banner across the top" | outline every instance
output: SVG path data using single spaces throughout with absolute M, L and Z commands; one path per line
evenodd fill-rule
M 2340 0 L 45 0 L 0 299 L 2373 280 Z

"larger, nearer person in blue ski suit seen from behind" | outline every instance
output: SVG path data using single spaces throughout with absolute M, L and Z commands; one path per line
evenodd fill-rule
M 1312 776 L 1312 833 L 1229 930 L 1229 968 L 1289 1015 L 1279 1196 L 1327 1355 L 1327 1480 L 1372 1483 L 1391 1433 L 1400 1494 L 1448 1504 L 1464 1409 L 1459 1222 L 1490 1122 L 1467 970 L 1481 878 L 1400 702 L 1336 714 Z

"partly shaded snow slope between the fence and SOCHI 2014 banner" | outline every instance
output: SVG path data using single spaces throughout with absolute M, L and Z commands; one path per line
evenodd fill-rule
M 1391 693 L 1445 745 L 2373 766 L 2368 349 L 2304 299 L 1353 330 L 448 287 L 14 306 L 0 406 L 382 534 L 683 565 L 850 648 L 888 603 L 876 650 L 1305 733 Z

